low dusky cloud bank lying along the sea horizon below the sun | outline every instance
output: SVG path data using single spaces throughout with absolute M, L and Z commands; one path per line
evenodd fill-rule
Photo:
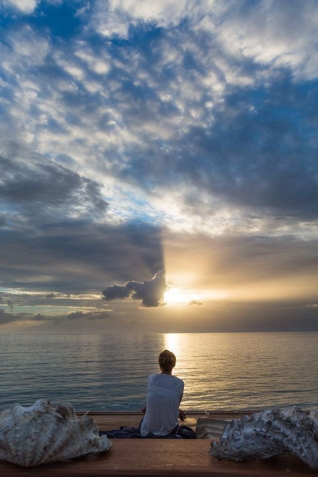
M 131 304 L 133 305 L 133 304 Z M 27 329 L 27 323 L 33 322 L 41 332 L 50 329 L 53 332 L 61 325 L 76 331 L 77 326 L 87 325 L 85 332 L 255 332 L 255 331 L 317 331 L 318 304 L 304 302 L 224 302 L 219 301 L 210 307 L 185 307 L 186 309 L 154 309 L 156 316 L 141 319 L 130 308 L 128 315 L 116 315 L 116 312 L 74 312 L 60 316 L 43 314 L 6 313 L 0 309 L 0 326 L 15 324 L 16 329 Z M 188 312 L 186 312 L 188 310 Z M 127 311 L 127 310 L 126 310 Z M 161 313 L 164 311 L 165 313 Z M 120 312 L 121 313 L 121 312 Z M 144 315 L 144 314 L 143 314 Z M 278 319 L 279 317 L 279 319 Z M 33 326 L 33 330 L 37 328 Z

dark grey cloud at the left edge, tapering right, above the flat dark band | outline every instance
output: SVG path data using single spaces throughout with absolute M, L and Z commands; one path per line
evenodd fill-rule
M 0 156 L 0 198 L 10 211 L 42 224 L 105 212 L 96 181 L 16 145 L 9 149 L 9 157 Z

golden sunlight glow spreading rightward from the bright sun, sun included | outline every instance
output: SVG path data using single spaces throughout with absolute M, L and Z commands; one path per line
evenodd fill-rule
M 167 307 L 183 307 L 192 301 L 267 302 L 308 300 L 317 296 L 314 267 L 289 269 L 290 253 L 278 254 L 274 248 L 259 249 L 222 243 L 206 237 L 180 234 L 163 239 L 164 269 L 169 289 Z M 287 252 L 285 252 L 286 254 Z M 243 257 L 243 258 L 241 258 Z M 246 258 L 247 257 L 247 258 Z M 284 269 L 286 268 L 286 270 Z

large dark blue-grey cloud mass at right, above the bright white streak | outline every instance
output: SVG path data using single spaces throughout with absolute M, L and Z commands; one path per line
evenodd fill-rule
M 282 94 L 284 90 L 289 90 L 288 96 Z M 204 111 L 202 100 L 198 101 L 202 123 L 189 123 L 183 134 L 165 141 L 163 151 L 155 139 L 152 144 L 145 142 L 142 151 L 140 146 L 133 147 L 134 154 L 118 176 L 122 180 L 134 177 L 144 188 L 155 183 L 153 197 L 157 193 L 162 198 L 162 190 L 166 191 L 167 214 L 172 194 L 180 223 L 183 215 L 193 226 L 195 221 L 204 226 L 211 212 L 212 222 L 233 217 L 234 227 L 248 215 L 265 220 L 285 216 L 295 223 L 302 218 L 316 220 L 316 159 L 304 140 L 304 135 L 313 137 L 316 125 L 309 121 L 305 129 L 299 128 L 297 119 L 302 114 L 312 117 L 311 95 L 310 87 L 295 87 L 284 73 L 266 88 L 262 84 L 248 91 L 228 87 L 213 111 Z M 153 167 L 149 158 L 153 158 Z

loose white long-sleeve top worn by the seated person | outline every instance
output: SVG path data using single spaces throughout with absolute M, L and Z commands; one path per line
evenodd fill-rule
M 148 378 L 147 409 L 141 435 L 169 434 L 178 424 L 179 405 L 183 396 L 182 379 L 170 374 L 152 374 Z

